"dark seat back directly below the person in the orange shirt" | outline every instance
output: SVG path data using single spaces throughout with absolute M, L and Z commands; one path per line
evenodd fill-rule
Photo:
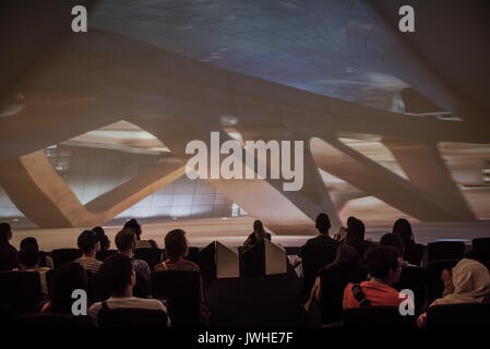
M 344 311 L 344 327 L 415 327 L 416 317 L 401 315 L 398 306 L 364 306 Z

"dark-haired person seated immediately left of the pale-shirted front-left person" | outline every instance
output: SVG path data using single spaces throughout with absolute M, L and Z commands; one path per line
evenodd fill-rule
M 73 290 L 87 290 L 87 275 L 82 265 L 69 262 L 53 270 L 51 293 L 49 301 L 41 309 L 41 313 L 72 314 Z

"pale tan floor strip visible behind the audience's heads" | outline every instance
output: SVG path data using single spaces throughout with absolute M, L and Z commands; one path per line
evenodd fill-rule
M 165 222 L 152 222 L 143 225 L 143 238 L 154 239 L 160 248 L 164 248 L 165 234 L 175 228 L 186 230 L 190 245 L 203 248 L 214 240 L 218 240 L 228 246 L 240 245 L 247 236 L 252 231 L 253 218 L 213 218 L 213 219 L 178 219 Z M 92 228 L 92 227 L 91 227 Z M 22 239 L 35 237 L 39 248 L 44 251 L 52 249 L 75 248 L 76 238 L 84 228 L 62 228 L 62 229 L 14 229 L 11 243 L 19 248 Z M 106 234 L 112 241 L 111 249 L 115 249 L 113 237 L 121 229 L 121 226 L 104 227 Z M 490 220 L 478 220 L 471 222 L 420 222 L 413 224 L 414 234 L 417 243 L 427 243 L 437 240 L 457 239 L 467 244 L 471 239 L 490 237 Z M 367 227 L 366 238 L 379 241 L 391 227 Z M 333 231 L 331 231 L 333 234 Z M 300 246 L 310 239 L 311 236 L 298 233 L 297 236 L 276 236 L 273 233 L 273 242 L 283 246 Z

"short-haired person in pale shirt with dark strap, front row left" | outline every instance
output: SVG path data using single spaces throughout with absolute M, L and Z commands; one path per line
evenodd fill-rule
M 88 315 L 95 324 L 100 309 L 134 308 L 167 311 L 165 305 L 157 299 L 133 297 L 133 288 L 136 284 L 136 275 L 133 270 L 131 260 L 117 253 L 104 261 L 99 272 L 100 280 L 110 293 L 110 298 L 104 302 L 94 303 L 88 309 Z

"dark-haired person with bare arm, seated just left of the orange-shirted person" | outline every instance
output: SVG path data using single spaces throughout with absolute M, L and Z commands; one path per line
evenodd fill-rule
M 359 253 L 355 248 L 349 244 L 340 244 L 337 249 L 334 262 L 326 265 L 324 269 L 337 269 L 338 274 L 347 275 L 350 269 L 358 268 L 360 266 Z M 310 310 L 311 302 L 321 302 L 322 289 L 320 277 L 316 277 L 313 288 L 311 289 L 310 299 L 304 304 L 306 311 Z

